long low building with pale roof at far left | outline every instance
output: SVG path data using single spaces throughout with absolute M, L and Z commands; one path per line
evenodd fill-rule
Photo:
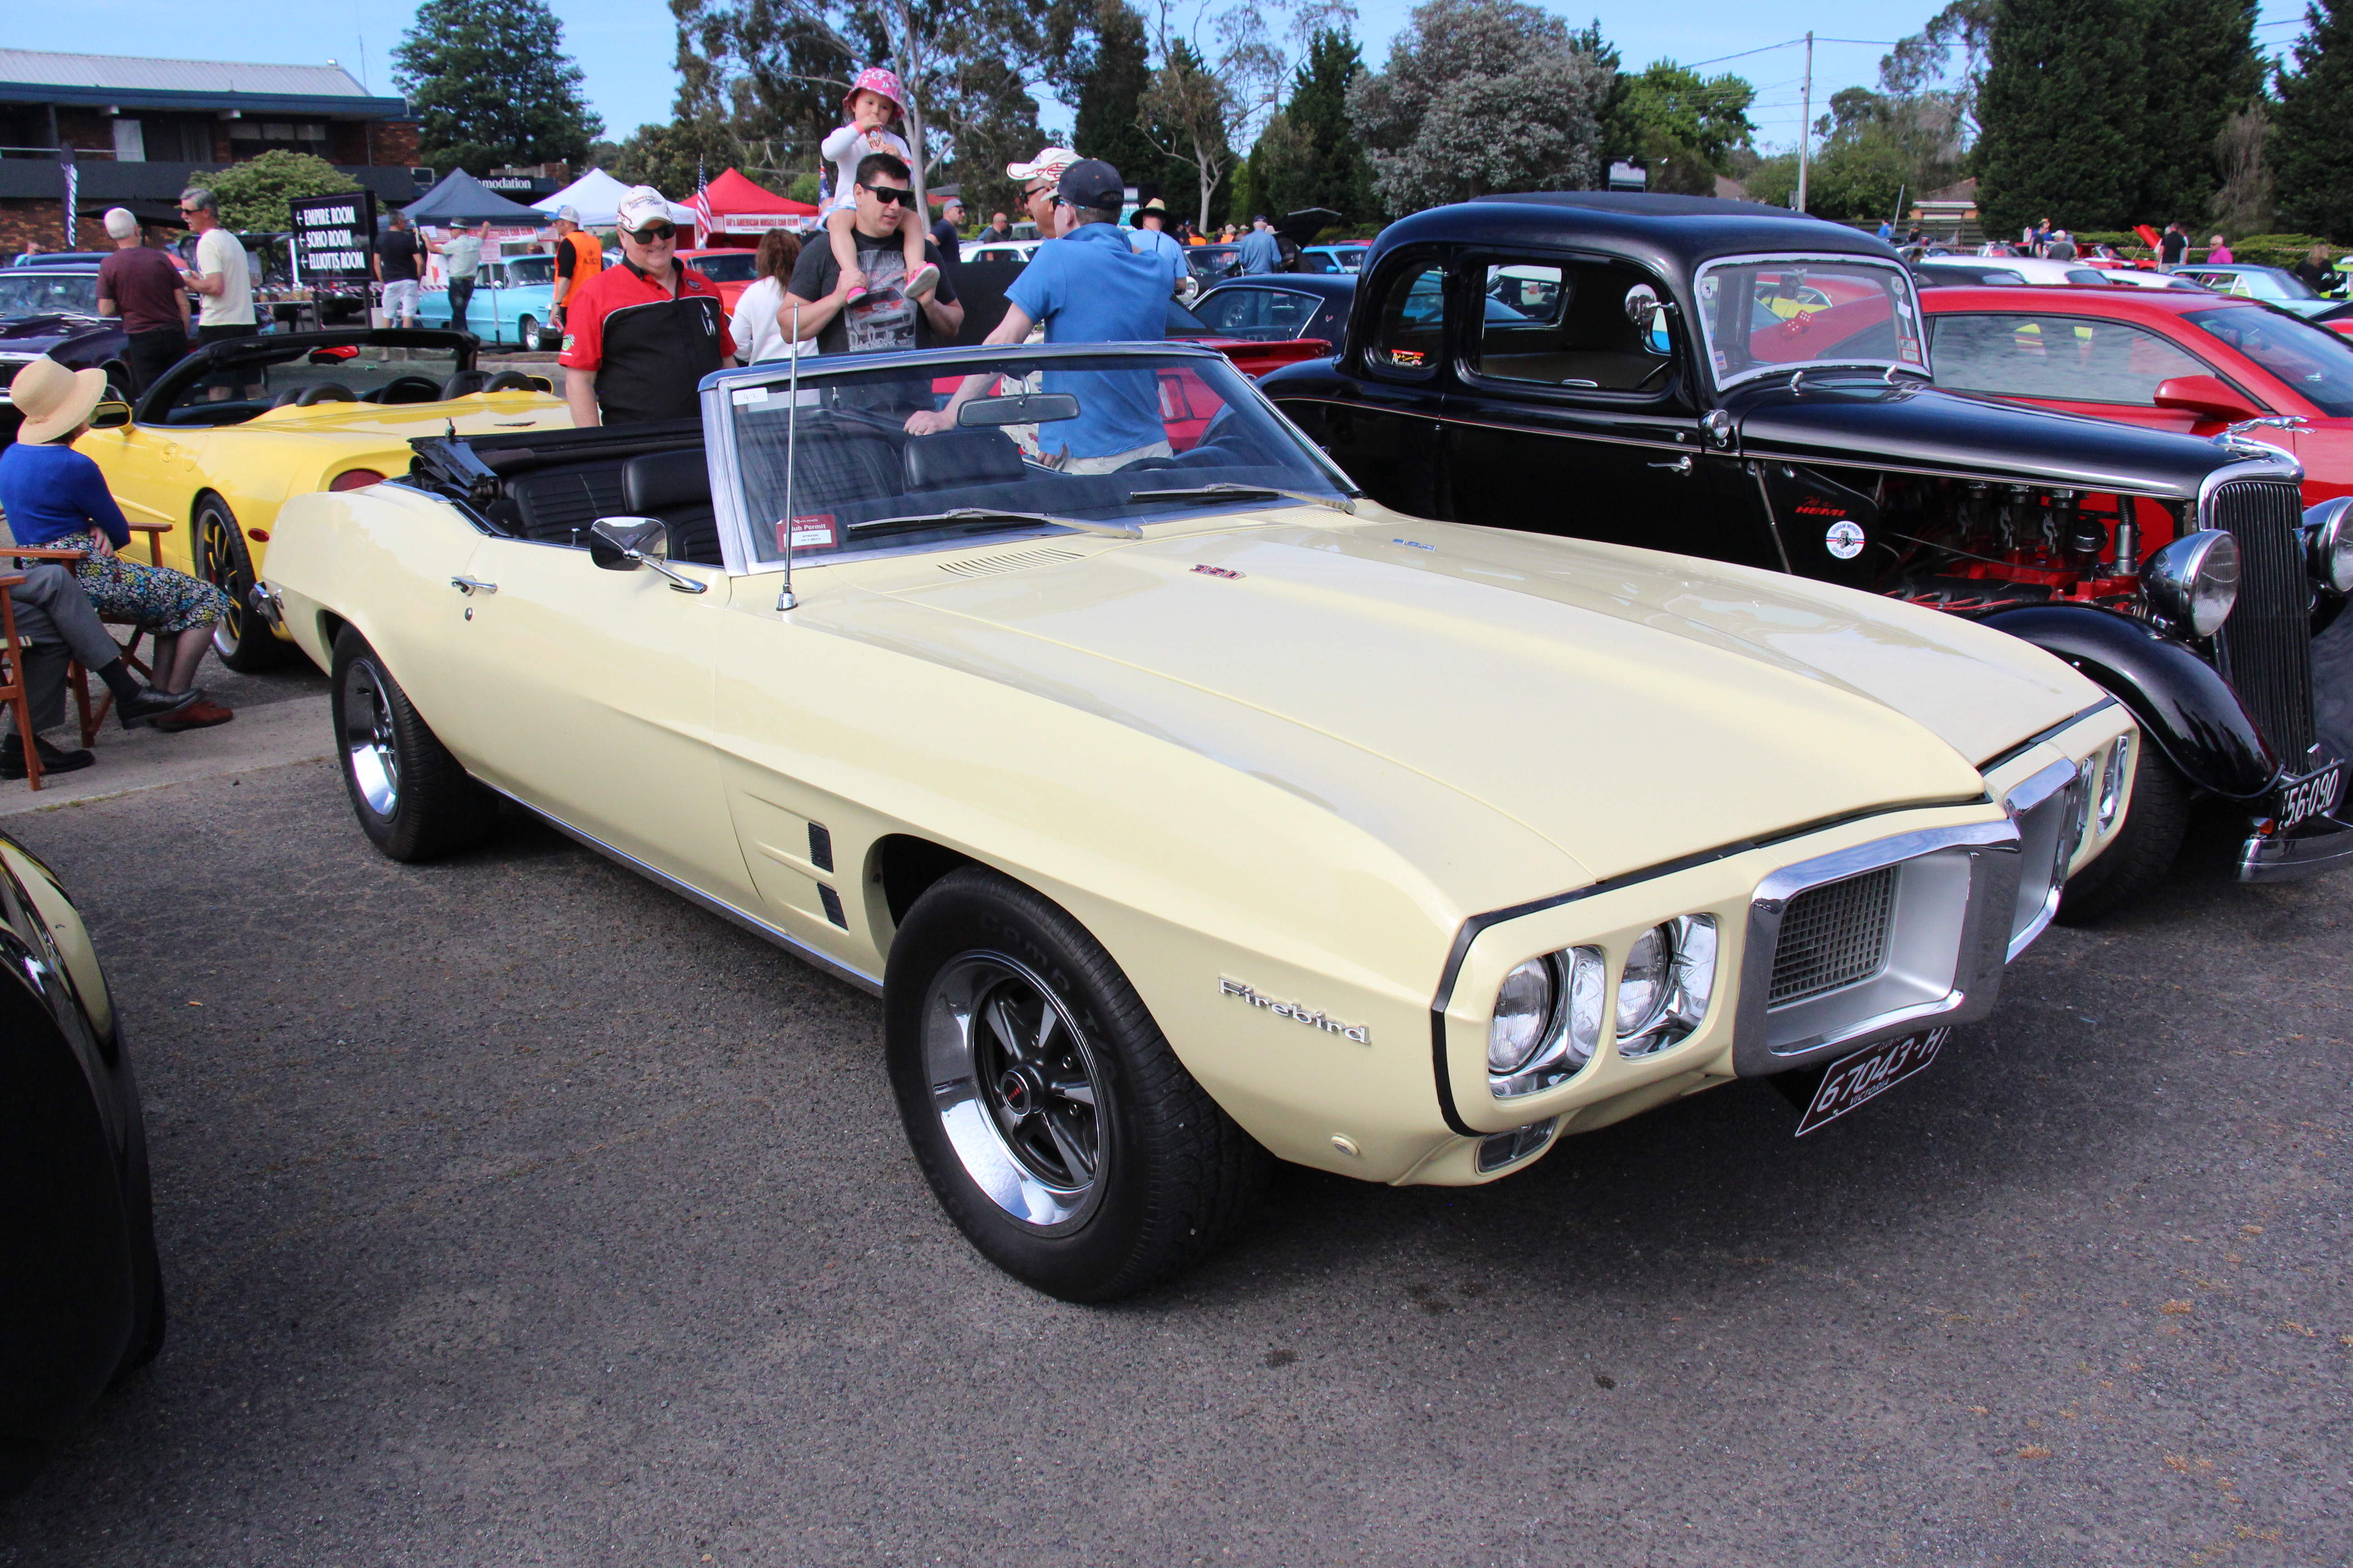
M 195 172 L 271 148 L 325 158 L 384 202 L 416 200 L 409 106 L 334 63 L 0 49 L 0 252 L 26 240 L 66 249 L 61 146 L 78 179 L 71 249 L 108 247 L 108 207 L 176 228 Z

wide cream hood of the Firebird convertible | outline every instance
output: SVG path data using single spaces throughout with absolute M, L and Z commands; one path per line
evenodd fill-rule
M 1155 733 L 1207 693 L 1435 780 L 1593 877 L 1977 799 L 1979 759 L 2099 701 L 2024 642 L 1840 588 L 1395 515 L 1275 517 L 988 576 L 894 557 L 859 581 L 1009 632 L 974 675 L 1080 689 Z M 972 646 L 955 625 L 894 639 L 941 663 Z

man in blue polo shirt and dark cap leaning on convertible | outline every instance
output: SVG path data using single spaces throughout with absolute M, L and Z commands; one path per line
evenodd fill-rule
M 1061 174 L 1061 205 L 1078 219 L 1061 240 L 1040 244 L 1021 275 L 1005 289 L 1005 320 L 988 343 L 1021 343 L 1033 324 L 1045 324 L 1047 343 L 1160 343 L 1167 336 L 1169 270 L 1158 256 L 1139 256 L 1120 233 L 1127 186 L 1099 158 L 1082 158 Z M 913 414 L 915 435 L 953 430 L 955 414 L 993 381 L 965 383 L 936 414 Z M 1049 461 L 1064 473 L 1111 473 L 1139 458 L 1172 456 L 1160 421 L 1160 378 L 1151 369 L 1047 371 L 1047 393 L 1078 397 L 1078 418 L 1038 430 Z

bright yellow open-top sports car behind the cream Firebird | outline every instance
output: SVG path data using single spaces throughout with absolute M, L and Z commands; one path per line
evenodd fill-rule
M 207 343 L 139 400 L 118 430 L 92 430 L 132 522 L 169 522 L 162 562 L 219 583 L 235 611 L 214 630 L 221 663 L 261 670 L 292 642 L 252 614 L 278 508 L 315 489 L 407 473 L 412 435 L 569 428 L 539 376 L 475 367 L 461 331 L 296 331 Z

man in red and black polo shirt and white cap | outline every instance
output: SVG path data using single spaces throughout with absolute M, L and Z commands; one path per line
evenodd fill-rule
M 574 425 L 692 418 L 694 386 L 734 364 L 718 284 L 678 263 L 671 205 L 652 186 L 621 197 L 621 266 L 565 301 L 565 402 Z

